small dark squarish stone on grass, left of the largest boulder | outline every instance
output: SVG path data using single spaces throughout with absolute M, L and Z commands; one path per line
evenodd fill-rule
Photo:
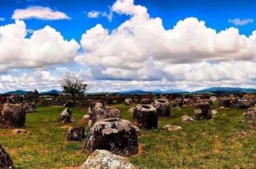
M 81 142 L 85 138 L 85 127 L 69 127 L 66 138 L 68 141 Z

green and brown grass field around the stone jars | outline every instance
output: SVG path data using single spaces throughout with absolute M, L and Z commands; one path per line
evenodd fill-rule
M 132 119 L 131 106 L 114 105 L 124 119 Z M 213 109 L 216 106 L 213 106 Z M 193 107 L 172 110 L 172 117 L 159 118 L 156 130 L 141 130 L 138 138 L 141 151 L 129 160 L 137 168 L 256 168 L 255 130 L 242 122 L 245 110 L 217 109 L 213 120 L 181 122 L 187 114 L 193 117 Z M 0 141 L 19 168 L 63 168 L 80 166 L 88 154 L 81 153 L 84 142 L 67 142 L 68 127 L 83 126 L 79 120 L 86 110 L 72 108 L 74 124 L 56 121 L 63 107 L 39 107 L 27 114 L 27 134 L 12 134 L 12 129 L 0 129 Z M 181 130 L 166 132 L 165 124 L 179 125 Z

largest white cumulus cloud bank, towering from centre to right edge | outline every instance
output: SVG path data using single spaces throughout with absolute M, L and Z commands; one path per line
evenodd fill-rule
M 234 27 L 216 32 L 193 17 L 164 29 L 162 19 L 150 17 L 146 7 L 133 0 L 116 1 L 112 12 L 131 18 L 111 32 L 101 24 L 88 29 L 81 37 L 84 53 L 75 58 L 91 66 L 99 79 L 161 80 L 172 73 L 158 65 L 255 61 L 255 32 L 250 37 Z

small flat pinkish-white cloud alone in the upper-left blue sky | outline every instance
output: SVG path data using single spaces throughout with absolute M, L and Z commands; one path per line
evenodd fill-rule
M 43 6 L 29 6 L 27 9 L 16 9 L 14 14 L 12 14 L 12 19 L 32 18 L 44 20 L 71 19 L 63 12 L 53 11 L 53 9 Z

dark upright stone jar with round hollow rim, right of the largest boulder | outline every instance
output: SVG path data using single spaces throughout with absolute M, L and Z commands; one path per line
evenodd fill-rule
M 138 104 L 133 112 L 133 124 L 140 129 L 156 129 L 158 126 L 156 108 L 152 105 Z

